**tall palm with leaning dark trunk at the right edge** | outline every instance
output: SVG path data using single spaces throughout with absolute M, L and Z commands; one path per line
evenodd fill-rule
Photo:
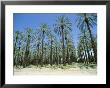
M 96 25 L 97 15 L 95 13 L 82 13 L 82 14 L 78 14 L 78 16 L 79 19 L 77 26 L 79 29 L 87 28 L 87 30 L 89 31 L 89 35 L 91 38 L 91 46 L 94 52 L 94 58 L 97 59 L 97 49 L 95 49 L 93 35 L 91 32 L 91 28 L 93 28 Z

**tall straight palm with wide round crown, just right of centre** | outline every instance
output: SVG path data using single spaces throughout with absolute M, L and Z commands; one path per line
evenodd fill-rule
M 64 38 L 65 38 L 65 31 L 70 31 L 72 30 L 71 28 L 72 23 L 66 16 L 59 16 L 56 20 L 55 28 L 54 31 L 58 33 L 62 37 L 62 57 L 63 57 L 63 65 L 66 65 L 65 62 L 65 44 L 64 44 Z

